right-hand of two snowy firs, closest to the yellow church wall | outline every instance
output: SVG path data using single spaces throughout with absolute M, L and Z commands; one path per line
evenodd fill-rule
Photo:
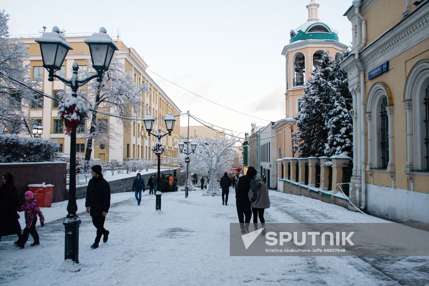
M 335 79 L 332 85 L 335 87 L 335 94 L 332 97 L 333 108 L 328 113 L 328 138 L 325 144 L 325 155 L 333 156 L 347 152 L 349 156 L 353 155 L 353 119 L 349 115 L 352 109 L 352 97 L 348 89 L 347 73 L 339 63 L 347 57 L 348 51 L 333 63 L 333 73 Z

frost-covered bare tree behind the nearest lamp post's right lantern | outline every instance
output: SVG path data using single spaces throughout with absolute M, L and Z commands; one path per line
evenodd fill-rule
M 94 73 L 92 64 L 88 64 L 87 70 L 79 70 L 79 76 L 85 77 Z M 98 114 L 95 110 L 102 107 L 110 113 L 129 117 L 134 113 L 142 112 L 142 92 L 148 91 L 148 84 L 136 84 L 130 72 L 124 72 L 124 65 L 114 55 L 109 70 L 103 73 L 103 81 L 92 80 L 88 83 L 88 89 L 79 89 L 78 97 L 87 103 L 88 120 L 90 124 L 80 129 L 79 138 L 87 138 L 85 160 L 91 159 L 93 145 L 104 145 L 112 148 L 117 133 L 111 124 L 107 123 L 106 116 Z M 62 99 L 70 96 L 69 89 L 64 89 L 59 96 Z M 94 111 L 91 111 L 94 110 Z M 131 120 L 116 118 L 124 128 L 130 128 Z

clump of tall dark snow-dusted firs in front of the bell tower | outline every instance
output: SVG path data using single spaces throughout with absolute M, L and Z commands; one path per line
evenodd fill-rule
M 324 52 L 312 75 L 305 83 L 301 111 L 295 117 L 299 156 L 351 152 L 352 127 L 348 115 L 351 94 L 347 88 L 347 73 Z

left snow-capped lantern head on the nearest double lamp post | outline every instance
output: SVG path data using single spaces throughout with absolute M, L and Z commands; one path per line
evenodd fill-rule
M 69 50 L 73 50 L 66 38 L 60 34 L 60 29 L 57 26 L 52 28 L 52 32 L 44 33 L 42 37 L 34 39 L 40 45 L 42 53 L 43 67 L 46 69 L 59 70 L 66 58 Z M 54 79 L 50 78 L 49 81 Z

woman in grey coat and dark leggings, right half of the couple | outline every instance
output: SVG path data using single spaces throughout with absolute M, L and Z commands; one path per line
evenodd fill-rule
M 255 183 L 261 183 L 261 177 L 260 175 L 255 176 Z M 257 189 L 256 191 L 250 189 L 249 190 L 249 200 L 251 200 L 252 196 L 256 193 L 256 200 L 251 201 L 251 207 L 252 207 L 252 213 L 253 213 L 253 225 L 255 227 L 255 230 L 258 229 L 258 216 L 259 221 L 261 222 L 261 225 L 263 227 L 262 235 L 265 235 L 265 219 L 264 219 L 264 211 L 265 209 L 269 208 L 270 202 L 269 202 L 269 195 L 268 195 L 268 189 L 264 183 L 261 183 L 261 187 Z

